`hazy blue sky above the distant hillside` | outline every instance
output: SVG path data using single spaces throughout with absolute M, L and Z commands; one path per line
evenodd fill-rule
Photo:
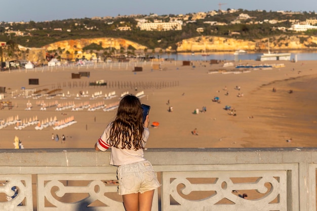
M 2 0 L 0 21 L 51 21 L 94 16 L 155 13 L 158 15 L 208 12 L 219 9 L 315 11 L 316 0 Z

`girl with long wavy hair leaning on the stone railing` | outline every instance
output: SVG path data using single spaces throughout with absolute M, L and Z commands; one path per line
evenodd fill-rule
M 118 194 L 127 211 L 150 211 L 154 190 L 160 187 L 143 149 L 149 137 L 149 117 L 142 120 L 140 100 L 126 95 L 119 103 L 115 119 L 95 144 L 95 150 L 111 148 L 110 165 L 117 166 Z

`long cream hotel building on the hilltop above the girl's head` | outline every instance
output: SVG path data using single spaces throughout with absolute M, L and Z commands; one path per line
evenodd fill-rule
M 169 30 L 182 30 L 183 21 L 175 22 L 154 22 L 142 23 L 138 22 L 137 27 L 141 31 L 169 31 Z

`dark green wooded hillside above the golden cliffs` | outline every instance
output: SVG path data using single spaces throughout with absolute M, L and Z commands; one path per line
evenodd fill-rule
M 229 9 L 228 9 L 229 10 Z M 252 21 L 263 21 L 265 19 L 271 20 L 287 20 L 285 22 L 276 24 L 247 24 L 250 20 L 243 20 L 240 24 L 229 24 L 235 20 L 239 14 L 244 13 L 252 17 Z M 175 15 L 164 15 L 155 17 L 168 22 L 170 18 Z M 147 18 L 153 21 L 154 18 L 147 16 L 140 16 L 138 18 Z M 277 36 L 281 34 L 293 35 L 292 31 L 277 30 L 277 27 L 284 26 L 291 27 L 289 20 L 304 21 L 309 18 L 315 18 L 315 13 L 294 13 L 283 14 L 278 12 L 266 11 L 247 11 L 243 9 L 237 10 L 235 13 L 218 14 L 215 16 L 206 16 L 204 19 L 196 20 L 195 22 L 188 22 L 183 25 L 182 30 L 170 31 L 141 31 L 137 28 L 137 21 L 131 17 L 116 17 L 109 20 L 94 20 L 90 18 L 83 19 L 67 19 L 54 20 L 46 22 L 29 21 L 27 24 L 21 23 L 0 23 L 0 41 L 12 40 L 14 43 L 25 47 L 43 47 L 45 45 L 55 43 L 56 41 L 68 39 L 81 38 L 97 38 L 97 37 L 115 37 L 124 38 L 147 46 L 149 49 L 176 49 L 176 43 L 183 39 L 188 39 L 196 36 L 224 36 L 239 39 L 257 39 L 268 36 Z M 191 17 L 189 18 L 191 20 Z M 206 21 L 217 21 L 227 23 L 223 26 L 212 26 L 204 23 Z M 111 23 L 111 24 L 108 24 Z M 131 31 L 116 30 L 118 26 L 130 26 Z M 5 33 L 7 28 L 13 31 L 25 31 L 24 36 L 15 36 L 15 34 Z M 203 32 L 197 32 L 196 29 L 202 27 Z M 54 29 L 61 30 L 54 30 Z M 237 32 L 237 33 L 231 33 Z M 317 35 L 317 30 L 301 32 L 306 35 Z

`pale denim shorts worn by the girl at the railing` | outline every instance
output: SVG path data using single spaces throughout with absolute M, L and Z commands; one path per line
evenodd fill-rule
M 121 165 L 117 169 L 118 194 L 144 193 L 160 187 L 153 166 L 147 160 Z

